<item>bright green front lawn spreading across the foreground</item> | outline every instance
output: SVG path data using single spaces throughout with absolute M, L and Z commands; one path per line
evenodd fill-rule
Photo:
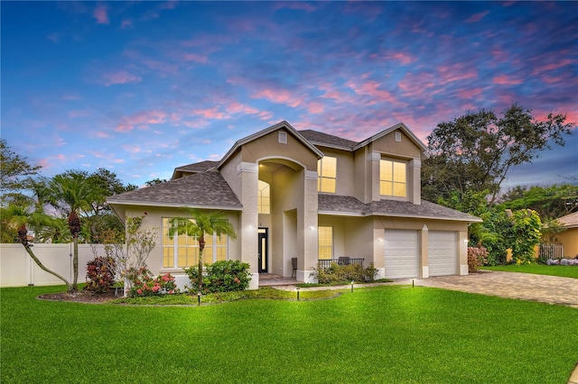
M 578 309 L 385 286 L 213 306 L 42 301 L 0 289 L 3 383 L 565 383 Z

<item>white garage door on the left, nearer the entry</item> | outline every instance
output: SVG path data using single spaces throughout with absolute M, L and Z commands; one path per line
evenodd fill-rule
M 386 278 L 404 279 L 419 276 L 417 231 L 386 230 Z

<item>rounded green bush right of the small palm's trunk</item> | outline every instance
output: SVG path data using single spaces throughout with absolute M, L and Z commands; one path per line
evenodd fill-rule
M 243 290 L 249 287 L 251 274 L 249 264 L 238 260 L 216 261 L 205 266 L 205 274 L 202 277 L 202 294 L 214 292 L 231 292 Z M 191 280 L 191 292 L 197 292 L 199 279 L 199 267 L 184 269 Z

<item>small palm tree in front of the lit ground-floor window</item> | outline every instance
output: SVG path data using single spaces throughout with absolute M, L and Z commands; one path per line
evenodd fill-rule
M 183 207 L 191 218 L 175 217 L 171 220 L 169 236 L 177 234 L 186 234 L 187 236 L 196 237 L 199 240 L 199 276 L 197 278 L 197 288 L 200 292 L 202 288 L 202 251 L 205 249 L 205 233 L 218 236 L 225 234 L 232 239 L 237 238 L 237 233 L 230 224 L 227 217 L 222 212 L 205 212 L 197 208 Z

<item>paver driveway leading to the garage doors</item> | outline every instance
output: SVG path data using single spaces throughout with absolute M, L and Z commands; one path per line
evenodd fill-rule
M 578 279 L 557 276 L 482 270 L 467 276 L 415 279 L 415 285 L 578 308 Z

